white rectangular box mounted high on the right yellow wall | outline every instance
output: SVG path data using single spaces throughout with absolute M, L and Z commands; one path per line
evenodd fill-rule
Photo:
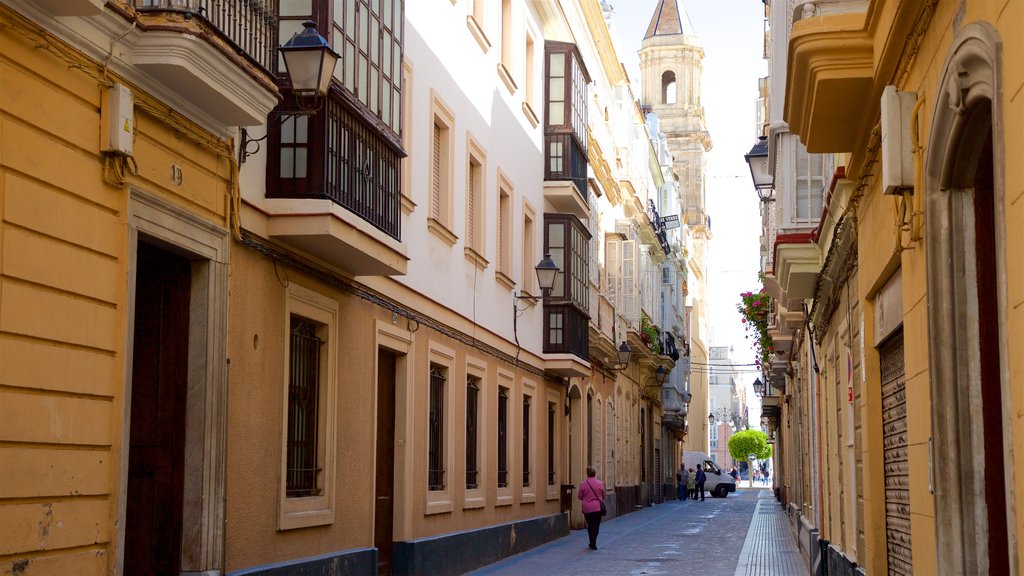
M 895 86 L 882 90 L 882 187 L 886 194 L 913 190 L 910 116 L 918 95 Z

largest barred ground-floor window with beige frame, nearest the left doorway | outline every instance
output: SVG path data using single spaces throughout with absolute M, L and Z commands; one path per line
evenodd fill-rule
M 279 529 L 334 522 L 336 301 L 292 285 L 288 289 L 284 450 Z

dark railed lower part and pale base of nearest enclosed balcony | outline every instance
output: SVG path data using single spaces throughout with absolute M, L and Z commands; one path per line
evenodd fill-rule
M 268 178 L 268 236 L 352 276 L 404 275 L 399 153 L 334 96 L 312 117 L 273 123 L 269 138 L 282 143 L 269 160 L 280 177 Z M 287 160 L 299 146 L 304 164 Z

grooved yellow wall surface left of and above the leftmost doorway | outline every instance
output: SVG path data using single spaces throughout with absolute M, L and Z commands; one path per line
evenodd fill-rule
M 115 562 L 130 249 L 127 189 L 104 181 L 98 150 L 100 78 L 97 63 L 0 7 L 5 571 L 104 574 Z M 134 95 L 131 182 L 222 223 L 229 164 Z

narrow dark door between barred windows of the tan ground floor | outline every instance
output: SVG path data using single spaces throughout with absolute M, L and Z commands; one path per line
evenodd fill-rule
M 394 541 L 394 380 L 395 355 L 377 352 L 377 501 L 374 510 L 374 546 L 377 574 L 391 574 Z

